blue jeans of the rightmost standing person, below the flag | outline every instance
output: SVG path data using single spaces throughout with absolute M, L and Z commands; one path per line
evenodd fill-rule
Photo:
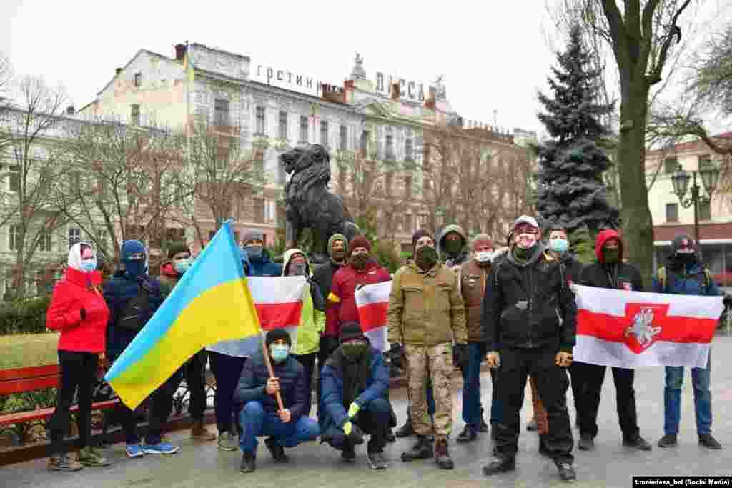
M 712 430 L 712 393 L 709 391 L 709 374 L 712 370 L 711 357 L 706 368 L 692 368 L 691 382 L 694 388 L 694 413 L 696 414 L 696 433 L 709 434 Z M 679 433 L 681 419 L 681 383 L 684 383 L 683 366 L 666 367 L 666 387 L 664 390 L 665 434 Z

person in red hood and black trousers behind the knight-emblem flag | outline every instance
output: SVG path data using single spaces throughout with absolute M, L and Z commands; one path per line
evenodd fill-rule
M 641 271 L 638 271 L 635 266 L 623 263 L 623 241 L 615 230 L 602 230 L 597 235 L 595 255 L 597 255 L 597 263 L 585 266 L 580 273 L 578 285 L 643 291 Z M 583 451 L 589 451 L 594 447 L 594 438 L 597 435 L 597 409 L 600 407 L 600 392 L 602 391 L 602 381 L 605 380 L 605 366 L 577 362 L 572 369 L 572 380 L 579 380 L 582 384 L 578 406 L 580 442 L 577 447 Z M 613 367 L 623 445 L 650 451 L 651 445 L 638 433 L 638 413 L 633 389 L 634 378 L 634 369 Z

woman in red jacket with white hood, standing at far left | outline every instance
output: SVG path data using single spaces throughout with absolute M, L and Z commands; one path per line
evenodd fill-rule
M 99 285 L 97 254 L 91 244 L 80 242 L 69 250 L 69 267 L 53 288 L 46 312 L 46 326 L 60 331 L 61 384 L 56 410 L 51 417 L 51 458 L 48 469 L 76 471 L 83 465 L 106 466 L 107 459 L 88 445 L 91 437 L 91 392 L 97 365 L 105 362 L 105 337 L 109 309 Z M 78 461 L 64 454 L 64 432 L 69 427 L 69 409 L 78 388 Z

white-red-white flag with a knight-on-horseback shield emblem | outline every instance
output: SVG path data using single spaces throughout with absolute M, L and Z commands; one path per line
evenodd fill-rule
M 721 296 L 575 286 L 574 360 L 624 368 L 706 367 Z

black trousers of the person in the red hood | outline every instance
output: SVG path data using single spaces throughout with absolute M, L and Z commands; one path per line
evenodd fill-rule
M 597 364 L 574 363 L 575 374 L 581 378 L 584 391 L 580 394 L 578 415 L 580 435 L 597 435 L 597 410 L 600 408 L 600 393 L 605 380 L 605 366 Z M 574 378 L 574 377 L 573 377 Z M 624 438 L 638 435 L 638 413 L 635 408 L 635 389 L 633 380 L 635 370 L 613 367 L 613 380 L 618 405 L 618 421 Z

